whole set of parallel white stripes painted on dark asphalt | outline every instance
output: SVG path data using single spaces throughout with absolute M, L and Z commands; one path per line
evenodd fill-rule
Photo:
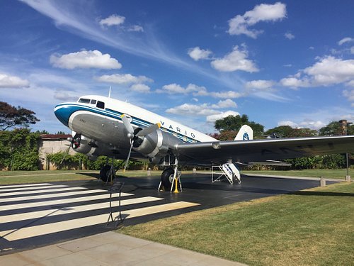
M 8 241 L 95 226 L 106 223 L 108 219 L 110 195 L 103 189 L 90 190 L 84 187 L 47 183 L 1 186 L 0 188 L 0 197 L 2 196 L 2 199 L 0 198 L 0 237 Z M 16 190 L 20 191 L 16 192 Z M 31 196 L 31 194 L 35 195 Z M 154 196 L 132 198 L 134 195 L 129 193 L 122 193 L 121 196 L 120 204 L 124 206 L 122 215 L 128 219 L 199 205 L 186 201 L 166 204 L 163 198 Z M 76 203 L 81 202 L 83 205 L 75 206 Z M 118 205 L 116 195 L 112 203 L 113 208 Z M 141 207 L 141 204 L 145 204 L 144 207 Z M 41 209 L 31 209 L 36 207 L 41 207 Z M 113 210 L 117 211 L 117 209 Z M 67 216 L 67 214 L 74 214 L 74 216 Z M 68 219 L 68 217 L 72 218 Z

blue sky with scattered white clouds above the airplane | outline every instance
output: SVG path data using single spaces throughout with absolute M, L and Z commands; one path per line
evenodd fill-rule
M 130 101 L 205 133 L 354 121 L 353 1 L 0 1 L 0 101 Z

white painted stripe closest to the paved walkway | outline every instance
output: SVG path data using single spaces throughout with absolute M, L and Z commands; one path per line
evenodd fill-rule
M 122 214 L 129 215 L 127 216 L 127 218 L 132 218 L 132 217 L 144 216 L 147 214 L 157 214 L 163 211 L 183 209 L 183 208 L 188 208 L 197 205 L 199 204 L 179 201 L 170 204 L 154 206 L 155 208 L 154 207 L 142 208 L 140 209 L 140 213 L 132 214 L 132 216 L 130 216 L 130 214 L 133 210 L 124 211 L 122 212 Z M 148 211 L 144 211 L 144 209 L 148 209 Z M 106 223 L 107 220 L 108 220 L 108 214 L 100 214 L 96 216 L 77 218 L 68 221 L 60 221 L 57 223 L 48 223 L 40 226 L 30 226 L 30 227 L 15 229 L 15 230 L 2 231 L 0 232 L 0 236 L 5 238 L 8 241 L 20 240 L 24 238 L 33 238 L 35 236 L 40 236 L 40 235 L 47 235 L 49 233 L 58 233 L 58 232 L 72 230 L 76 228 L 82 228 L 85 226 L 93 226 L 100 223 Z

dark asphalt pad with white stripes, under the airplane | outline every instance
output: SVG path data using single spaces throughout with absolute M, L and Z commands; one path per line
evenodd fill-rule
M 211 182 L 207 174 L 181 177 L 183 192 L 158 192 L 159 177 L 119 178 L 120 204 L 112 194 L 118 226 L 145 223 L 189 211 L 287 194 L 318 187 L 318 180 L 243 176 L 241 184 Z M 115 230 L 107 224 L 110 186 L 101 181 L 50 182 L 0 186 L 0 255 L 62 243 Z

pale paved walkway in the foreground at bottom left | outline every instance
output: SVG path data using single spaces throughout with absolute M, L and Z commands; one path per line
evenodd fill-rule
M 239 262 L 106 232 L 0 256 L 0 265 L 223 265 Z

